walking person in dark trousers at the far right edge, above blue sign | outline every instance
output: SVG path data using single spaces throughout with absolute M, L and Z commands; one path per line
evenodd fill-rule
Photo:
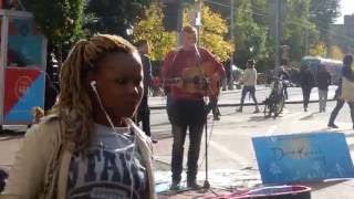
M 353 55 L 345 55 L 343 59 L 342 75 L 346 80 L 354 82 L 354 72 L 351 67 L 352 63 L 353 63 Z M 332 128 L 339 127 L 337 125 L 334 124 L 334 121 L 345 103 L 345 101 L 341 97 L 341 95 L 342 95 L 342 78 L 340 78 L 339 87 L 335 91 L 336 105 L 331 113 L 331 117 L 330 117 L 329 125 L 327 125 L 329 127 L 332 127 Z M 354 102 L 348 101 L 347 104 L 350 105 L 350 108 L 351 108 L 351 117 L 352 117 L 353 129 L 354 129 Z

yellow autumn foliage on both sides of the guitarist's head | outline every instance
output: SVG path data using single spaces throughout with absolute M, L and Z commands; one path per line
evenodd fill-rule
M 191 23 L 192 13 L 192 9 L 185 9 L 184 24 Z M 152 59 L 163 60 L 167 51 L 176 46 L 177 33 L 164 30 L 164 14 L 157 2 L 146 10 L 145 15 L 145 19 L 139 20 L 134 25 L 134 41 L 148 40 L 152 45 Z M 206 6 L 202 7 L 201 17 L 200 45 L 210 50 L 220 61 L 228 60 L 233 46 L 230 41 L 225 39 L 228 33 L 226 21 Z

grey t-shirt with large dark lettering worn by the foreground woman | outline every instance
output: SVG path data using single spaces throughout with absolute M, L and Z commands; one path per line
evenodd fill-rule
M 116 127 L 114 132 L 95 124 L 95 130 L 87 153 L 74 153 L 72 157 L 67 199 L 142 198 L 146 192 L 146 169 L 134 146 L 132 129 Z

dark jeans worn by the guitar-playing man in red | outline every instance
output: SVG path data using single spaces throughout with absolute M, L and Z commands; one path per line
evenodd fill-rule
M 178 101 L 169 97 L 168 115 L 174 136 L 171 172 L 173 181 L 179 182 L 183 171 L 184 146 L 189 130 L 189 149 L 187 161 L 187 180 L 196 180 L 202 128 L 206 122 L 206 107 L 202 100 Z

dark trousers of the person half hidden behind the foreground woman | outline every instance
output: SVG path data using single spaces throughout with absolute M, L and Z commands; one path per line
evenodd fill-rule
M 147 136 L 152 136 L 150 132 L 150 108 L 148 107 L 148 96 L 144 95 L 138 109 L 138 122 L 142 122 L 142 128 Z

